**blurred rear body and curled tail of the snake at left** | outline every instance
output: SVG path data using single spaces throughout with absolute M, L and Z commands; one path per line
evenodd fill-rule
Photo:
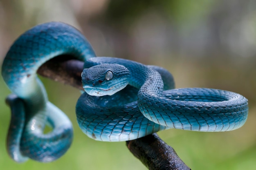
M 27 157 L 36 161 L 53 161 L 61 157 L 72 142 L 70 120 L 48 101 L 45 88 L 36 76 L 37 69 L 44 62 L 64 54 L 82 61 L 95 56 L 78 30 L 67 24 L 50 22 L 22 34 L 4 58 L 2 77 L 19 98 L 12 96 L 7 99 L 12 110 L 7 150 L 15 161 L 22 162 Z M 46 124 L 50 124 L 53 130 L 43 134 Z M 24 128 L 16 128 L 17 125 Z

